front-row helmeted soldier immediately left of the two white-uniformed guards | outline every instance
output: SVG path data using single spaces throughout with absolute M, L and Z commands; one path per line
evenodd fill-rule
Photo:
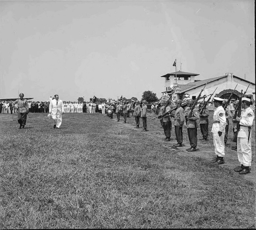
M 187 101 L 187 106 L 190 108 L 194 104 L 192 99 Z M 190 110 L 188 114 L 190 113 Z M 199 113 L 198 110 L 195 108 L 193 109 L 192 116 L 187 117 L 187 133 L 188 139 L 190 143 L 190 148 L 186 149 L 188 152 L 196 151 L 197 147 L 197 120 L 199 120 Z

